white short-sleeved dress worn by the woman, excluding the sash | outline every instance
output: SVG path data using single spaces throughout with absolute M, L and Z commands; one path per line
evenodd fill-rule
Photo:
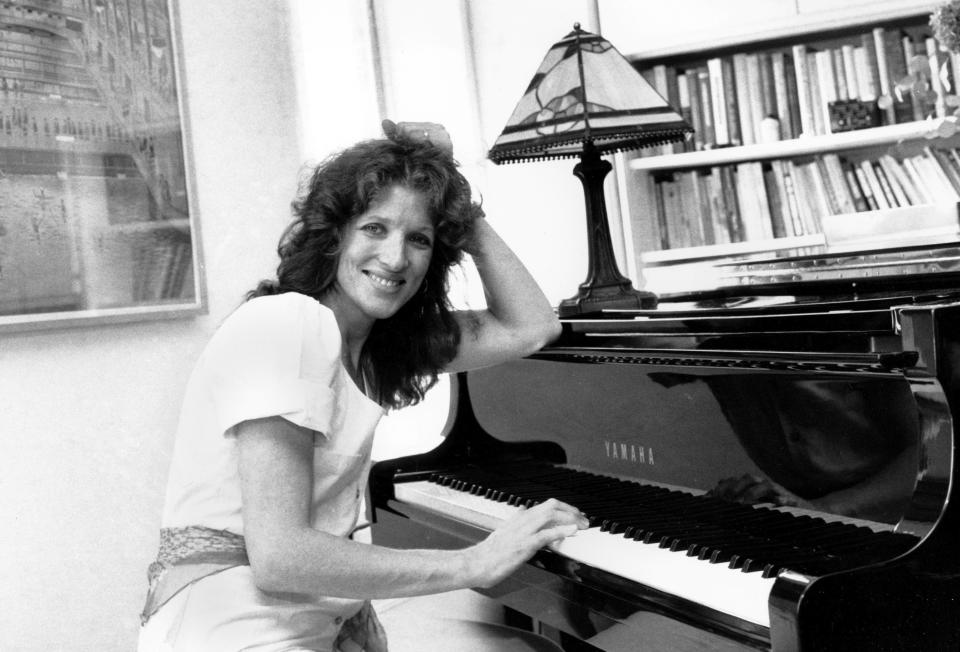
M 383 409 L 340 361 L 333 313 L 297 293 L 258 297 L 211 338 L 187 385 L 162 526 L 206 526 L 243 535 L 234 429 L 281 416 L 314 436 L 312 526 L 349 536 Z M 249 566 L 180 591 L 144 625 L 141 652 L 330 650 L 361 601 L 257 589 Z

